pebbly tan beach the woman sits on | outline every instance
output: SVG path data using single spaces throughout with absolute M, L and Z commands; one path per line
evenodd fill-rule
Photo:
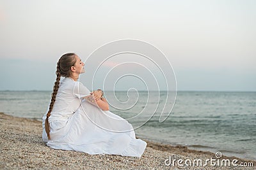
M 4 113 L 0 113 L 0 128 L 0 169 L 255 169 L 256 166 L 255 160 L 225 156 L 216 159 L 215 153 L 151 141 L 147 141 L 141 158 L 54 150 L 42 141 L 42 122 Z M 216 159 L 216 165 L 208 161 L 205 166 L 205 160 L 211 158 Z M 183 162 L 170 164 L 174 159 Z M 193 161 L 198 159 L 202 160 L 202 166 L 193 166 Z M 223 159 L 230 160 L 230 166 L 218 164 L 217 160 Z M 234 159 L 237 159 L 234 162 L 237 166 L 232 165 Z M 241 167 L 241 163 L 253 164 L 253 167 Z

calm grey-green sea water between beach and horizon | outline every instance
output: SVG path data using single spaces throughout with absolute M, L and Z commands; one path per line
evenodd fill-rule
M 106 92 L 106 98 L 140 138 L 256 160 L 256 92 L 177 92 L 164 122 L 166 92 L 150 94 L 150 100 L 148 92 Z M 42 120 L 50 100 L 51 91 L 0 91 L 0 111 Z

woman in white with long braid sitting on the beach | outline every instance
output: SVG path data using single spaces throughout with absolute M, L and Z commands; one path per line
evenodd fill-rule
M 102 90 L 91 93 L 77 81 L 84 72 L 75 53 L 61 56 L 49 111 L 43 117 L 43 141 L 61 150 L 141 157 L 147 143 L 135 138 L 127 120 L 109 111 Z M 65 78 L 60 80 L 61 76 Z

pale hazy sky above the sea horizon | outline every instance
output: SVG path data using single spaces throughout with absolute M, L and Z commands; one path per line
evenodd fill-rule
M 52 90 L 56 63 L 67 52 L 75 52 L 86 61 L 82 77 L 90 86 L 92 70 L 99 65 L 97 55 L 92 57 L 96 49 L 120 39 L 138 39 L 155 46 L 172 65 L 164 57 L 153 59 L 166 71 L 164 74 L 175 75 L 177 87 L 173 81 L 167 82 L 168 87 L 256 91 L 255 20 L 256 1 L 246 0 L 0 0 L 0 90 Z M 126 60 L 148 64 L 150 71 L 156 71 L 150 62 L 135 55 L 114 57 L 103 67 L 109 70 Z M 132 70 L 151 85 L 147 70 L 128 65 L 123 64 L 122 72 L 114 70 L 108 80 L 116 81 L 117 72 L 125 75 Z M 104 68 L 98 72 L 93 87 L 102 87 L 105 72 Z M 155 76 L 161 76 L 159 70 Z M 118 81 L 116 89 L 145 90 L 143 83 L 133 78 Z M 157 81 L 164 84 L 163 78 Z M 106 83 L 104 88 L 113 89 L 113 83 Z

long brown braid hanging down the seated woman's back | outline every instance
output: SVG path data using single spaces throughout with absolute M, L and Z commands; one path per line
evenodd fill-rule
M 56 78 L 56 81 L 55 81 L 54 87 L 53 87 L 51 104 L 49 106 L 49 111 L 48 111 L 46 119 L 45 119 L 45 131 L 47 133 L 48 139 L 51 139 L 50 138 L 50 125 L 49 125 L 48 118 L 51 116 L 51 111 L 52 111 L 52 108 L 53 108 L 53 104 L 56 100 L 56 95 L 57 95 L 58 89 L 60 87 L 60 77 L 61 77 L 60 60 L 58 61 L 58 64 L 57 64 L 57 71 L 56 71 L 57 78 Z

